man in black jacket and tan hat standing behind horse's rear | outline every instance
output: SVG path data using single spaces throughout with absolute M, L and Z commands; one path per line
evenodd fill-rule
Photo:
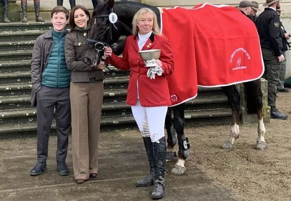
M 282 38 L 280 37 L 280 17 L 276 12 L 276 9 L 281 6 L 281 0 L 266 0 L 263 6 L 268 7 L 258 16 L 256 26 L 265 64 L 263 77 L 268 81 L 268 105 L 271 107 L 271 118 L 286 120 L 288 115 L 279 112 L 276 108 L 281 62 L 285 60 L 282 54 Z

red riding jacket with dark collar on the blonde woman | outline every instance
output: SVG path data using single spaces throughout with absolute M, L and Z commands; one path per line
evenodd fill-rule
M 174 61 L 168 39 L 161 35 L 152 34 L 142 49 L 161 49 L 159 60 L 162 62 L 164 72 L 161 76 L 156 75 L 155 79 L 150 79 L 146 75 L 149 68 L 145 67 L 145 63 L 138 53 L 137 38 L 133 35 L 127 37 L 122 58 L 112 53 L 112 56 L 106 59 L 107 62 L 120 70 L 131 69 L 126 103 L 136 105 L 138 82 L 139 101 L 142 106 L 171 105 L 168 82 L 165 76 L 173 73 Z

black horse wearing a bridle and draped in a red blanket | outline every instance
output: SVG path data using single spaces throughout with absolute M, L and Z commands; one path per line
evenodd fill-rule
M 114 0 L 101 0 L 94 9 L 91 18 L 91 29 L 88 39 L 88 50 L 84 55 L 84 62 L 88 65 L 98 65 L 100 58 L 103 56 L 103 49 L 106 45 L 111 45 L 116 42 L 121 35 L 129 36 L 132 34 L 132 20 L 134 14 L 142 7 L 152 9 L 160 23 L 160 13 L 156 7 L 137 3 L 137 2 L 116 2 Z M 118 20 L 115 24 L 110 23 L 110 13 L 116 13 Z M 112 16 L 111 16 L 112 17 Z M 119 55 L 122 53 L 124 41 L 113 51 Z M 246 108 L 248 114 L 257 114 L 258 117 L 258 138 L 256 149 L 263 150 L 267 148 L 264 135 L 266 129 L 263 122 L 262 115 L 262 92 L 260 88 L 260 80 L 254 80 L 244 83 Z M 240 94 L 235 85 L 224 86 L 222 90 L 227 96 L 227 100 L 232 110 L 232 122 L 230 128 L 230 137 L 224 142 L 223 148 L 231 150 L 234 140 L 239 138 L 240 129 Z M 171 107 L 174 111 L 174 125 L 171 118 L 171 110 L 169 109 L 166 116 L 166 130 L 168 134 L 167 148 L 171 149 L 178 141 L 179 144 L 179 159 L 172 169 L 171 173 L 174 175 L 182 175 L 186 171 L 184 166 L 185 159 L 189 156 L 189 146 L 187 146 L 187 139 L 184 135 L 184 104 Z M 175 130 L 178 135 L 176 139 Z

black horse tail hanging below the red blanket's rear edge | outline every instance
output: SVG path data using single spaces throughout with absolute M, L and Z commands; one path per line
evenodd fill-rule
M 245 82 L 245 100 L 247 114 L 257 114 L 263 107 L 262 90 L 260 79 Z

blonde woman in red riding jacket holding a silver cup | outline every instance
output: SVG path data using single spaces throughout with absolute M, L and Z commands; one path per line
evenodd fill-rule
M 149 67 L 140 57 L 138 51 L 161 49 L 157 65 L 163 69 L 162 75 L 155 79 L 147 76 Z M 150 163 L 150 172 L 136 182 L 136 186 L 154 186 L 152 198 L 164 195 L 166 140 L 164 123 L 168 105 L 171 104 L 167 75 L 174 70 L 172 49 L 168 39 L 160 35 L 157 16 L 149 8 L 141 8 L 133 19 L 133 35 L 127 37 L 123 57 L 106 48 L 104 55 L 107 62 L 118 69 L 131 70 L 127 91 L 127 104 L 132 112 L 143 137 Z

